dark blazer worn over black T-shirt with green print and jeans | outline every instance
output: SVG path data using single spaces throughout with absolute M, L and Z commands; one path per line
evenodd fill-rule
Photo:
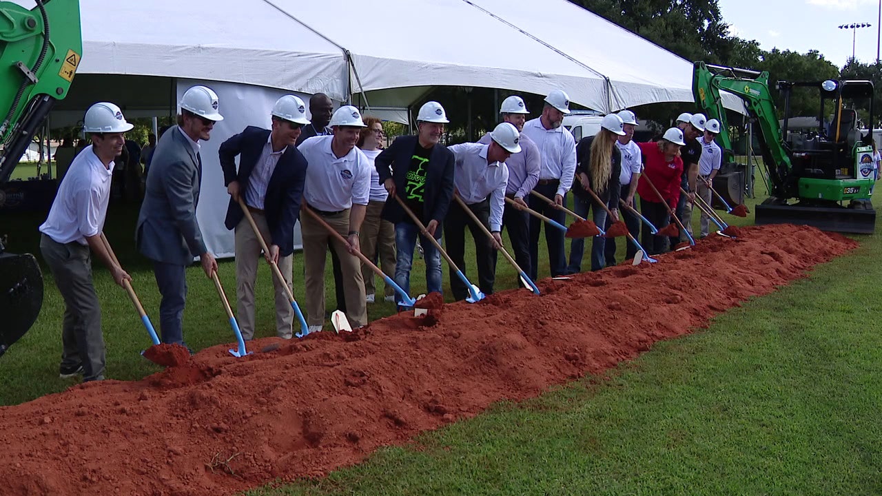
M 386 179 L 392 177 L 395 181 L 395 194 L 404 192 L 404 186 L 407 183 L 407 170 L 410 169 L 410 162 L 414 156 L 416 146 L 416 136 L 399 136 L 392 141 L 390 147 L 378 154 L 374 160 L 377 173 L 380 175 L 380 184 L 383 184 Z M 432 147 L 423 196 L 423 224 L 428 224 L 432 220 L 437 221 L 438 224 L 444 222 L 455 188 L 453 185 L 453 162 L 453 152 L 448 150 L 447 147 L 440 143 Z M 389 171 L 390 166 L 392 167 L 391 173 Z M 386 200 L 385 207 L 383 207 L 383 218 L 392 223 L 409 219 L 399 202 L 395 199 Z M 437 234 L 439 236 L 440 233 L 441 231 L 438 229 Z

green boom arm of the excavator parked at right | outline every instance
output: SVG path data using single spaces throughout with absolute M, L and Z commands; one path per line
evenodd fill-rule
M 732 142 L 726 126 L 726 110 L 722 106 L 720 91 L 734 94 L 744 101 L 748 114 L 756 117 L 759 124 L 763 162 L 772 183 L 769 184 L 769 192 L 784 199 L 796 196 L 796 184 L 788 183 L 790 155 L 781 136 L 781 126 L 778 125 L 768 79 L 767 71 L 748 71 L 696 62 L 692 71 L 692 94 L 699 109 L 708 118 L 717 119 L 722 124 L 717 139 L 720 139 L 725 150 L 723 160 L 726 162 L 732 162 L 735 154 L 732 152 Z

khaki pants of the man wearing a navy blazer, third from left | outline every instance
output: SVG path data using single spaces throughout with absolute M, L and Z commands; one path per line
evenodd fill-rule
M 254 223 L 258 225 L 260 235 L 267 241 L 271 241 L 270 228 L 266 224 L 266 217 L 259 212 L 251 212 Z M 235 296 L 236 319 L 239 330 L 245 340 L 254 338 L 254 283 L 258 278 L 258 263 L 265 263 L 261 255 L 260 242 L 254 234 L 254 229 L 245 217 L 235 226 Z M 294 257 L 279 257 L 279 270 L 285 278 L 288 288 L 291 286 L 291 266 Z M 288 301 L 288 291 L 279 282 L 275 274 L 270 274 L 275 288 L 276 306 L 276 335 L 280 338 L 291 339 L 292 323 L 294 322 L 294 309 Z

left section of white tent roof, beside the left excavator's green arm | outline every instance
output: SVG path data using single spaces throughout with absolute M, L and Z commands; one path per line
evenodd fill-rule
M 79 2 L 81 74 L 239 82 L 338 101 L 348 94 L 340 48 L 262 0 Z

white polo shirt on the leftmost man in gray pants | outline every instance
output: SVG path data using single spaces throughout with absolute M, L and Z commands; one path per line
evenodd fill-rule
M 96 236 L 104 229 L 113 167 L 114 162 L 104 167 L 92 145 L 83 148 L 67 169 L 40 232 L 56 243 L 88 244 L 87 236 Z

